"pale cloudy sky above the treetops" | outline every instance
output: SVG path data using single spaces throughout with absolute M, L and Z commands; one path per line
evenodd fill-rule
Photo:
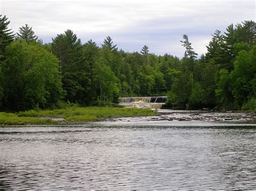
M 183 34 L 201 55 L 215 30 L 255 21 L 255 0 L 0 0 L 0 14 L 16 33 L 28 24 L 44 43 L 71 29 L 86 43 L 99 46 L 110 36 L 119 49 L 165 53 L 182 58 Z

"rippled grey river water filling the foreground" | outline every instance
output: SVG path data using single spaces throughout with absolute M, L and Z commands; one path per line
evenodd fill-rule
M 0 189 L 256 189 L 255 126 L 0 128 Z

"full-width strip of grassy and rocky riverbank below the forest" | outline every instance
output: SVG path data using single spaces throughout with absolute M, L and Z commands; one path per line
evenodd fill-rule
M 15 114 L 0 112 L 0 125 L 83 124 L 86 122 L 251 122 L 256 123 L 256 111 L 189 111 L 169 109 L 138 109 L 109 107 L 68 107 L 56 110 L 29 110 Z

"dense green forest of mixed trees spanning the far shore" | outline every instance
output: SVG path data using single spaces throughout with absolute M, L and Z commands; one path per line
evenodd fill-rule
M 183 59 L 155 55 L 144 46 L 124 52 L 106 37 L 82 44 L 66 30 L 43 44 L 25 24 L 17 34 L 0 16 L 1 110 L 117 103 L 118 97 L 168 95 L 170 107 L 256 109 L 255 22 L 215 31 L 197 58 L 186 35 Z

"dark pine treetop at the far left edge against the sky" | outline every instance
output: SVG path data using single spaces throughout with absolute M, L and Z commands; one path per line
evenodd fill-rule
M 14 40 L 15 34 L 12 34 L 11 29 L 8 29 L 10 21 L 4 15 L 0 15 L 0 59 L 4 52 L 5 47 Z

